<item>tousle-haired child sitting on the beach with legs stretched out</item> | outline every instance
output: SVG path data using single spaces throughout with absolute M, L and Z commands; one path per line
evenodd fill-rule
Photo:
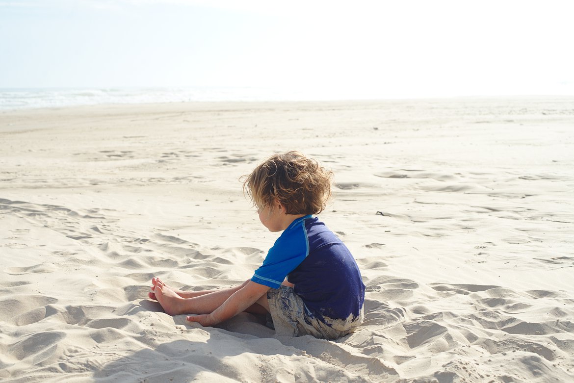
M 311 214 L 331 196 L 332 173 L 297 151 L 273 155 L 244 176 L 259 220 L 283 232 L 250 280 L 182 291 L 152 279 L 150 298 L 170 315 L 213 326 L 242 311 L 266 314 L 278 335 L 335 339 L 363 322 L 364 284 L 347 247 Z

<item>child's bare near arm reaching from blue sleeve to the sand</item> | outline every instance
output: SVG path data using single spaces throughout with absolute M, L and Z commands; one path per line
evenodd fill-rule
M 187 317 L 189 322 L 199 322 L 201 326 L 214 326 L 226 319 L 245 311 L 252 304 L 257 302 L 263 294 L 269 290 L 264 286 L 253 281 L 247 282 L 240 290 L 234 292 L 221 306 L 216 308 L 211 314 L 190 315 Z

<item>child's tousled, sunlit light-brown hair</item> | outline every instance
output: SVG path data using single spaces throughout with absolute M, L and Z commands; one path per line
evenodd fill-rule
M 267 158 L 249 175 L 243 191 L 257 208 L 280 202 L 286 214 L 318 214 L 331 197 L 333 173 L 298 151 Z

